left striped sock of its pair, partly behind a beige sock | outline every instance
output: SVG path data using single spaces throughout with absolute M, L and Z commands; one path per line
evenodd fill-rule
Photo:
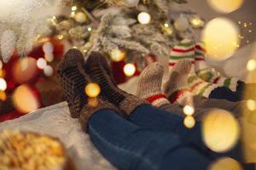
M 171 51 L 169 60 L 170 69 L 175 65 L 179 59 L 189 59 L 191 62 L 191 71 L 189 72 L 188 85 L 189 91 L 193 94 L 209 97 L 212 90 L 218 88 L 217 84 L 203 81 L 195 74 L 195 43 L 191 40 L 183 40 L 179 42 Z

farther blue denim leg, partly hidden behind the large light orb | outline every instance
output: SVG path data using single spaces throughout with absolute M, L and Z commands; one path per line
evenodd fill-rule
M 195 127 L 189 129 L 183 125 L 183 117 L 177 116 L 175 113 L 166 112 L 151 105 L 139 106 L 128 118 L 139 127 L 151 128 L 162 132 L 175 133 L 183 139 L 183 141 L 195 144 L 198 150 L 212 158 L 220 156 L 230 156 L 237 161 L 242 161 L 241 143 L 236 144 L 233 150 L 223 154 L 218 154 L 209 150 L 204 144 L 201 135 L 201 122 L 196 122 Z

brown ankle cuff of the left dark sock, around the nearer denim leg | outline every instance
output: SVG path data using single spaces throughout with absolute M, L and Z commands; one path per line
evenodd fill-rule
M 102 110 L 113 110 L 116 113 L 118 113 L 120 116 L 124 116 L 115 105 L 112 105 L 106 101 L 103 101 L 102 99 L 96 98 L 96 105 L 89 105 L 89 104 L 84 105 L 84 108 L 82 109 L 81 114 L 79 115 L 79 122 L 81 123 L 86 133 L 88 133 L 88 122 L 89 122 L 90 116 Z

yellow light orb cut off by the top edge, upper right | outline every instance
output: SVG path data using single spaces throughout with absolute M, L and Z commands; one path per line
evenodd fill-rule
M 243 0 L 207 0 L 207 2 L 219 13 L 230 13 L 241 7 Z

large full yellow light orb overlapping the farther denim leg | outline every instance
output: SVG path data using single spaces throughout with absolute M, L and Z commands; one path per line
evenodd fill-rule
M 208 148 L 222 153 L 234 147 L 240 136 L 240 128 L 230 112 L 214 110 L 202 120 L 202 135 Z

